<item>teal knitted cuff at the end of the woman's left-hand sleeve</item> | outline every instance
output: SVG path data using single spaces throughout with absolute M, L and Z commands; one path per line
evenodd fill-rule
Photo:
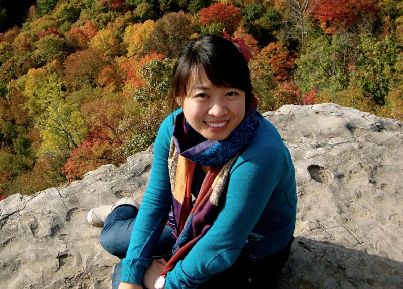
M 152 259 L 150 258 L 124 258 L 122 260 L 121 282 L 142 285 L 144 272 L 150 267 L 151 262 Z

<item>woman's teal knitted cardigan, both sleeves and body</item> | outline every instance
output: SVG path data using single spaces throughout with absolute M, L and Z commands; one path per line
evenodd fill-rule
M 154 144 L 148 187 L 123 259 L 122 282 L 142 284 L 144 271 L 171 209 L 168 153 L 173 119 L 161 124 Z M 229 268 L 246 246 L 252 257 L 283 249 L 296 219 L 296 183 L 288 149 L 260 113 L 258 128 L 230 171 L 224 206 L 211 229 L 168 272 L 165 288 L 196 288 Z

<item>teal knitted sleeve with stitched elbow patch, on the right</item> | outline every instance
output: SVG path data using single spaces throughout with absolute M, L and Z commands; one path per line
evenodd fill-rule
M 166 289 L 196 288 L 235 262 L 276 185 L 289 174 L 284 149 L 268 150 L 251 148 L 238 158 L 221 212 L 206 235 L 168 272 Z

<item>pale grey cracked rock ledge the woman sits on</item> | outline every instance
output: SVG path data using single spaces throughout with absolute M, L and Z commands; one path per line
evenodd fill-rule
M 335 104 L 264 116 L 296 168 L 296 239 L 279 288 L 403 288 L 403 124 Z M 110 288 L 118 258 L 87 224 L 94 206 L 141 202 L 152 148 L 120 168 L 0 201 L 0 288 Z

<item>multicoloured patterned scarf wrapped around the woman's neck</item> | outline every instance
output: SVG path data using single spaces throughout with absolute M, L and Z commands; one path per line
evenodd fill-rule
M 173 256 L 161 275 L 185 258 L 211 228 L 223 204 L 229 173 L 257 128 L 257 101 L 252 97 L 243 121 L 224 140 L 206 140 L 177 115 L 168 156 L 173 214 L 167 226 L 177 238 Z M 210 166 L 192 207 L 192 182 L 196 165 Z

